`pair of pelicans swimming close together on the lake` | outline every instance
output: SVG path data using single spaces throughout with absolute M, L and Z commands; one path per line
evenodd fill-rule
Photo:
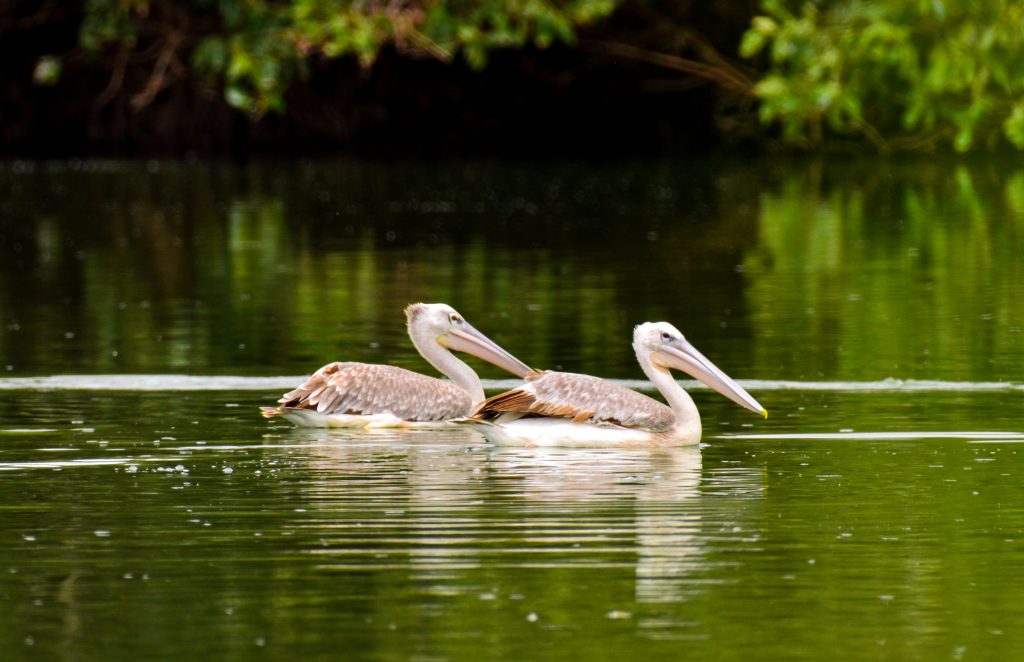
M 742 386 L 719 370 L 667 322 L 633 331 L 633 348 L 668 406 L 598 377 L 534 370 L 474 329 L 445 303 L 406 308 L 409 335 L 451 381 L 395 366 L 330 363 L 279 407 L 309 427 L 468 425 L 494 444 L 514 446 L 681 446 L 700 441 L 700 415 L 671 370 L 682 370 L 736 404 L 767 417 Z M 471 354 L 524 380 L 484 400 L 480 378 L 455 351 Z

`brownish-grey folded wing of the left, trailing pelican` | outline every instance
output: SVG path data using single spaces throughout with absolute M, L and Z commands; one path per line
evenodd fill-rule
M 472 407 L 469 394 L 451 382 L 395 366 L 338 362 L 324 366 L 278 402 L 326 414 L 389 412 L 413 421 L 465 416 Z

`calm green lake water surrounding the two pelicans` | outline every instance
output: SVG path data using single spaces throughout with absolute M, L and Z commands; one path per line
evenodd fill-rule
M 444 301 L 699 448 L 302 430 Z M 0 162 L 5 659 L 1019 659 L 1024 164 Z M 488 394 L 514 385 L 469 360 Z

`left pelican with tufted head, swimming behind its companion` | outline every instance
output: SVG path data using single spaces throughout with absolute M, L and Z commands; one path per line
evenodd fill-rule
M 483 400 L 473 369 L 451 349 L 465 351 L 523 377 L 531 372 L 474 329 L 445 303 L 413 303 L 406 308 L 409 336 L 420 355 L 452 381 L 395 366 L 329 363 L 278 402 L 263 416 L 283 416 L 305 427 L 422 427 L 446 425 Z

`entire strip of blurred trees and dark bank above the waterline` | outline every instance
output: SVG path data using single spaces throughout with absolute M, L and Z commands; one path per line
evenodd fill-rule
M 1013 0 L 23 0 L 0 138 L 1024 149 L 1022 26 Z

